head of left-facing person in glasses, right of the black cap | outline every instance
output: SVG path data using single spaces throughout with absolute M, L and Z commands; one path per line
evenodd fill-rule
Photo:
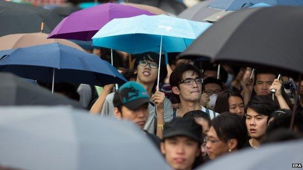
M 225 112 L 211 121 L 207 133 L 206 149 L 210 159 L 241 149 L 247 140 L 244 120 Z

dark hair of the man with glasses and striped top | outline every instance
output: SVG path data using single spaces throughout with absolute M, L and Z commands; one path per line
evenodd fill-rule
M 186 71 L 193 71 L 198 74 L 198 77 L 202 77 L 201 71 L 191 64 L 180 64 L 170 74 L 169 84 L 171 87 L 179 87 L 179 83 L 183 81 L 182 76 Z

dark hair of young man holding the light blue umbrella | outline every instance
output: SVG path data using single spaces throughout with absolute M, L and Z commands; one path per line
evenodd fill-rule
M 159 54 L 157 54 L 155 52 L 145 52 L 145 53 L 141 53 L 141 54 L 135 54 L 135 55 L 133 55 L 133 57 L 135 58 L 134 70 L 137 70 L 137 66 L 138 66 L 139 62 L 142 60 L 156 62 L 160 66 L 159 84 L 162 84 L 163 80 L 167 77 L 167 74 L 168 74 L 164 57 L 162 57 L 163 60 L 161 61 L 160 64 L 159 64 Z M 137 74 L 135 74 L 135 76 L 137 77 Z M 157 82 L 157 80 L 155 82 Z M 153 90 L 155 90 L 156 85 L 157 85 L 157 83 L 153 84 L 153 88 L 152 88 Z

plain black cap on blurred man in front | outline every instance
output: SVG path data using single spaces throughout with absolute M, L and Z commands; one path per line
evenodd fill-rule
M 202 143 L 202 126 L 193 118 L 175 118 L 172 122 L 165 124 L 163 139 L 175 136 L 185 136 Z

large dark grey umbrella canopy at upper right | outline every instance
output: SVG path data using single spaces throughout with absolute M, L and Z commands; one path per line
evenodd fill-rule
M 303 73 L 303 7 L 252 8 L 219 20 L 181 56 Z M 297 75 L 297 74 L 296 74 Z

